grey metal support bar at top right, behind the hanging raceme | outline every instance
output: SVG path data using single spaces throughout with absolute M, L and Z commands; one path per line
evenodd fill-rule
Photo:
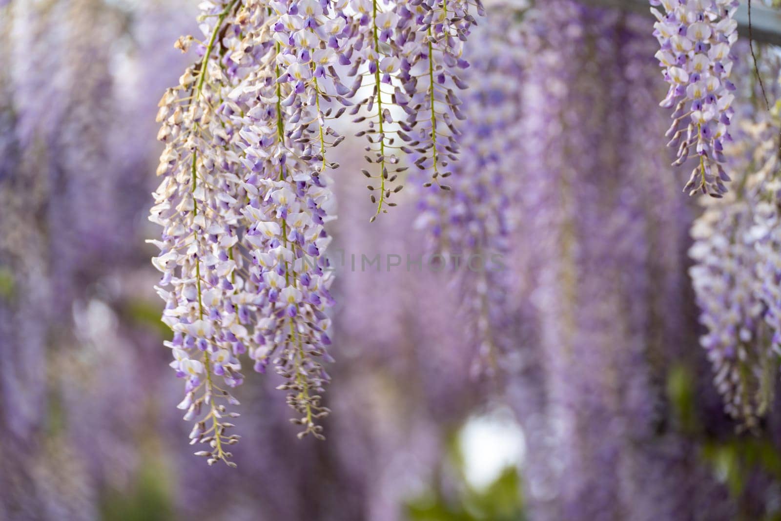
M 651 15 L 651 4 L 648 0 L 580 0 L 584 4 L 604 5 L 616 9 L 626 9 Z M 747 0 L 740 0 L 740 7 L 735 14 L 741 37 L 748 37 L 748 7 Z M 659 7 L 658 9 L 662 9 Z M 761 0 L 751 2 L 751 34 L 754 40 L 772 45 L 781 45 L 781 10 L 764 5 Z

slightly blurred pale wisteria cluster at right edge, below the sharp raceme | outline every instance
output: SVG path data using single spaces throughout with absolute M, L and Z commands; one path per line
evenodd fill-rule
M 779 323 L 779 141 L 775 126 L 748 126 L 754 170 L 740 192 L 708 205 L 694 223 L 690 275 L 707 333 L 701 345 L 726 412 L 758 427 L 772 402 L 781 355 Z M 755 150 L 748 143 L 759 142 Z

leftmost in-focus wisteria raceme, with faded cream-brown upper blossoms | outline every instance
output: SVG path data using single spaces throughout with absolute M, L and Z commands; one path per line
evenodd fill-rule
M 230 27 L 224 25 L 226 19 L 234 20 L 240 6 L 237 0 L 204 4 L 209 17 L 201 27 L 208 42 L 203 59 L 160 102 L 158 139 L 166 148 L 150 217 L 163 227 L 161 240 L 152 241 L 160 248 L 152 262 L 163 273 L 158 288 L 166 302 L 163 322 L 174 331 L 173 340 L 166 341 L 171 366 L 185 381 L 185 398 L 178 407 L 186 411 L 185 419 L 196 421 L 193 443 L 211 448 L 198 454 L 208 456 L 210 464 L 223 460 L 230 465 L 226 447 L 237 437 L 226 433 L 233 426 L 226 419 L 237 413 L 227 412 L 226 405 L 237 405 L 229 389 L 244 379 L 238 346 L 248 342 L 250 332 L 235 302 L 241 299 L 234 259 L 239 256 L 241 209 L 235 194 L 241 179 L 238 158 L 226 145 L 237 135 L 223 127 L 225 116 L 215 104 L 232 72 L 221 57 L 237 38 L 234 31 L 220 38 L 220 31 Z

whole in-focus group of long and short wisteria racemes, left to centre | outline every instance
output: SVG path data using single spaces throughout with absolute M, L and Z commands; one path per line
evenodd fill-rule
M 391 152 L 394 131 L 433 148 L 433 161 L 419 166 L 437 177 L 457 151 L 451 86 L 465 87 L 455 70 L 467 66 L 462 41 L 474 19 L 457 0 L 226 0 L 201 10 L 205 39 L 177 41 L 201 60 L 159 105 L 166 148 L 150 219 L 163 234 L 152 241 L 160 248 L 153 263 L 163 273 L 163 320 L 174 331 L 166 345 L 185 380 L 179 408 L 195 422 L 192 443 L 207 445 L 197 454 L 209 464 L 233 466 L 231 390 L 244 380 L 244 356 L 255 371 L 272 365 L 284 376 L 301 436 L 323 437 L 333 304 L 325 225 L 335 217 L 329 171 L 338 166 L 328 152 L 344 139 L 333 122 L 348 108 L 367 122 L 360 134 L 379 166 L 366 171 L 379 182 L 371 187 L 377 214 L 394 204 L 387 199 L 401 185 L 390 184 L 406 170 Z M 417 80 L 419 62 L 428 81 Z M 356 103 L 362 87 L 372 95 Z M 408 120 L 394 123 L 399 108 Z M 423 128 L 428 141 L 412 137 Z

